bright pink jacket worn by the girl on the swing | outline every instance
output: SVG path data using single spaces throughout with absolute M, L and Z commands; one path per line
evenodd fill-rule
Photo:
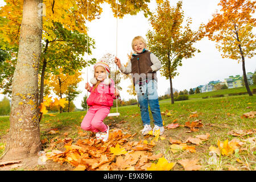
M 111 78 L 110 80 L 110 85 L 105 85 L 104 81 L 102 81 L 94 91 L 93 87 L 90 87 L 90 96 L 87 99 L 87 104 L 89 106 L 113 106 L 113 100 L 115 99 L 115 87 L 114 81 Z

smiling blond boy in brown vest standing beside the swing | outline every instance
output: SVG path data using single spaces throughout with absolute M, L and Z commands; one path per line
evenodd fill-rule
M 160 113 L 158 93 L 157 93 L 157 77 L 158 71 L 162 65 L 158 58 L 146 48 L 146 41 L 141 36 L 136 36 L 131 47 L 136 52 L 131 60 L 124 67 L 120 60 L 115 57 L 115 64 L 119 70 L 126 75 L 131 73 L 133 76 L 133 84 L 137 92 L 139 106 L 141 108 L 141 119 L 144 125 L 142 135 L 147 135 L 152 130 L 150 126 L 150 117 L 148 113 L 148 104 L 155 121 L 153 135 L 156 131 L 160 131 L 160 135 L 164 132 L 163 120 Z

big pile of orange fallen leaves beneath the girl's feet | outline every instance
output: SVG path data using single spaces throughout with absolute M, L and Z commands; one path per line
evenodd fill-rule
M 75 166 L 74 170 L 146 170 L 151 166 L 150 160 L 156 160 L 162 154 L 152 155 L 154 145 L 144 142 L 127 142 L 130 134 L 121 130 L 109 134 L 109 140 L 102 142 L 96 139 L 79 139 L 76 144 L 72 140 L 66 142 L 65 151 L 47 152 L 48 159 L 55 162 L 68 162 Z M 61 142 L 64 142 L 61 140 Z M 170 164 L 159 159 L 159 165 L 169 169 Z M 154 166 L 154 165 L 153 165 Z

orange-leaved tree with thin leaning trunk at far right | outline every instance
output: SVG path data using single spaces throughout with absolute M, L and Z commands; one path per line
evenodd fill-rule
M 250 0 L 221 0 L 218 3 L 220 11 L 205 26 L 207 36 L 216 42 L 216 47 L 223 58 L 242 61 L 243 80 L 249 96 L 253 96 L 245 71 L 245 57 L 255 55 L 256 39 L 253 28 L 256 26 L 255 1 Z

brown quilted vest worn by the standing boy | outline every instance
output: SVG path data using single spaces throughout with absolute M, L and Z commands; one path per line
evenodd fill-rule
M 153 65 L 150 60 L 150 53 L 145 50 L 143 53 L 131 57 L 131 73 L 134 85 L 139 81 L 157 80 L 156 72 L 150 72 L 150 67 Z

